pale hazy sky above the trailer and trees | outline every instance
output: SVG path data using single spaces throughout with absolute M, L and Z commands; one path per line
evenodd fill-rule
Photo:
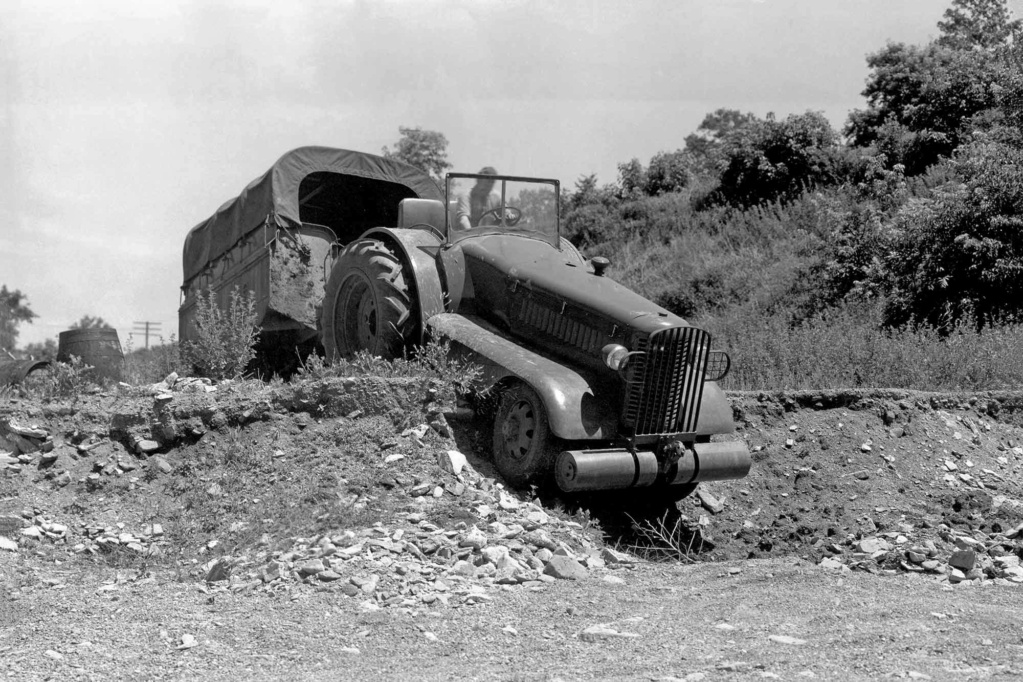
M 291 148 L 421 126 L 455 170 L 612 182 L 718 107 L 840 128 L 865 55 L 934 38 L 947 5 L 3 0 L 0 284 L 39 315 L 19 345 L 83 315 L 176 333 L 185 234 Z

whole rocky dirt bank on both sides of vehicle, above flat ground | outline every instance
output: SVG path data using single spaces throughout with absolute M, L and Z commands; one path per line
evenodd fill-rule
M 731 400 L 749 478 L 701 486 L 654 540 L 696 560 L 1015 576 L 1023 396 Z M 349 576 L 346 590 L 383 603 L 441 598 L 452 577 L 538 584 L 555 555 L 568 573 L 605 569 L 624 558 L 607 547 L 652 539 L 614 495 L 580 506 L 505 489 L 486 424 L 465 416 L 436 382 L 372 377 L 11 401 L 0 535 L 43 559 L 173 565 L 244 589 Z

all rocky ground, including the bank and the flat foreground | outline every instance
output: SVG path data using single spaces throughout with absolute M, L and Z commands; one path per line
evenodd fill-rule
M 638 530 L 613 498 L 506 489 L 486 457 L 486 424 L 425 379 L 171 377 L 73 403 L 11 400 L 0 406 L 0 453 L 9 453 L 0 454 L 0 615 L 15 627 L 0 633 L 0 671 L 941 679 L 1014 670 L 1019 638 L 1002 629 L 1011 609 L 965 616 L 942 604 L 970 612 L 1018 599 L 1023 396 L 731 398 L 735 438 L 754 453 L 750 475 L 702 486 L 679 513 Z M 856 598 L 833 603 L 843 585 Z M 971 588 L 982 590 L 960 596 Z M 871 594 L 919 606 L 886 611 Z M 230 616 L 213 607 L 225 603 Z M 853 632 L 832 623 L 840 606 L 852 607 Z M 821 638 L 808 618 L 834 628 Z M 905 643 L 900 619 L 913 641 L 947 639 L 958 653 L 893 661 L 893 643 Z M 222 628 L 237 635 L 235 649 Z M 873 649 L 855 633 L 871 633 Z M 117 648 L 133 638 L 145 642 L 139 651 Z M 848 642 L 876 665 L 853 674 L 862 662 L 846 654 L 813 663 L 807 642 Z M 597 655 L 594 666 L 593 643 L 647 657 Z M 967 665 L 976 647 L 995 645 L 997 655 L 979 649 L 993 663 Z M 651 647 L 660 653 L 650 657 Z M 679 660 L 685 647 L 699 654 Z M 480 667 L 445 668 L 457 651 Z M 440 657 L 408 665 L 412 652 Z

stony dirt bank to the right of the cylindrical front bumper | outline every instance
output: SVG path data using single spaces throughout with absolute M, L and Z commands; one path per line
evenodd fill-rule
M 1013 531 L 1023 521 L 1021 399 L 732 394 L 738 437 L 753 453 L 750 475 L 704 485 L 712 503 L 696 496 L 681 508 L 704 517 L 706 558 L 796 554 L 889 570 L 926 542 L 937 543 L 944 560 L 962 537 L 986 549 L 1008 543 L 993 553 L 1012 553 Z M 875 556 L 864 561 L 860 543 L 870 538 L 882 538 L 890 551 L 865 552 Z

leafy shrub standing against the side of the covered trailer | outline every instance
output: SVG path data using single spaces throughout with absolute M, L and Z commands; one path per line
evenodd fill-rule
M 256 357 L 259 328 L 256 298 L 235 286 L 221 309 L 216 293 L 201 292 L 195 306 L 195 340 L 181 344 L 181 359 L 197 376 L 212 379 L 240 376 Z

